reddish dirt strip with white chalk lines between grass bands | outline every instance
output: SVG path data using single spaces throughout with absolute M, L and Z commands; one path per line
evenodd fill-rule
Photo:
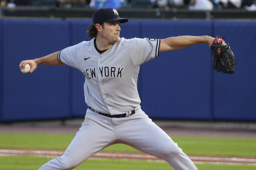
M 43 151 L 43 150 L 9 150 L 0 149 L 0 156 L 38 156 L 38 157 L 58 157 L 63 151 Z M 137 159 L 136 159 L 137 158 Z M 228 165 L 256 165 L 256 159 L 252 158 L 218 158 L 205 156 L 190 156 L 195 164 L 228 164 Z M 165 162 L 152 155 L 143 154 L 121 154 L 121 153 L 97 153 L 90 159 L 122 159 L 122 160 L 144 160 L 148 162 Z M 202 160 L 202 161 L 200 161 Z

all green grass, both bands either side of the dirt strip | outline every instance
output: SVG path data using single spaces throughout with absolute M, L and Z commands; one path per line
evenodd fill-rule
M 23 134 L 0 133 L 0 148 L 29 148 L 65 150 L 74 135 L 70 134 Z M 188 155 L 219 155 L 256 157 L 256 138 L 220 138 L 220 137 L 172 137 L 179 147 Z M 134 148 L 116 144 L 104 151 L 138 152 Z M 38 169 L 52 158 L 31 156 L 0 157 L 1 170 Z M 199 170 L 253 170 L 256 166 L 247 165 L 214 165 L 196 164 Z M 94 160 L 89 159 L 75 170 L 159 170 L 173 169 L 168 163 L 125 161 L 125 160 Z

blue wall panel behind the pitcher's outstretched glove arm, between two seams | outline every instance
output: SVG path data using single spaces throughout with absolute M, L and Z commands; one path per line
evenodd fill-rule
M 210 22 L 144 21 L 143 37 L 211 35 Z M 151 118 L 211 120 L 211 51 L 199 44 L 144 63 L 142 109 Z

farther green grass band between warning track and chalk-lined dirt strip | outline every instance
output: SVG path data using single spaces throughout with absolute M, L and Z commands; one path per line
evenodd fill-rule
M 71 134 L 0 133 L 0 147 L 65 150 L 73 138 Z M 256 157 L 256 138 L 174 136 L 172 139 L 187 155 Z M 139 152 L 123 144 L 104 151 Z

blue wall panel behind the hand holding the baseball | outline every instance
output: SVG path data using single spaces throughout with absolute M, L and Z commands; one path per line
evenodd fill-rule
M 69 67 L 39 65 L 32 74 L 19 69 L 69 45 L 65 20 L 3 20 L 3 120 L 70 117 Z

